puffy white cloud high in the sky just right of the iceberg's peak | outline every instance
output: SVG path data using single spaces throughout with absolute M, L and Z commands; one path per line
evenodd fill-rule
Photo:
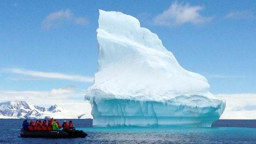
M 174 2 L 167 10 L 163 11 L 153 19 L 156 25 L 181 25 L 183 23 L 201 24 L 212 20 L 211 17 L 204 17 L 199 14 L 202 6 L 190 6 Z

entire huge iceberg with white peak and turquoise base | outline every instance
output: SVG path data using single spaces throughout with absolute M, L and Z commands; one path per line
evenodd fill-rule
M 137 18 L 99 10 L 98 71 L 85 99 L 93 126 L 210 127 L 225 101 L 206 78 L 185 70 Z

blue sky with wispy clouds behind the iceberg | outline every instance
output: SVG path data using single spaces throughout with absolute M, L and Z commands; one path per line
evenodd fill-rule
M 179 21 L 175 5 L 195 17 Z M 213 94 L 256 93 L 255 7 L 253 0 L 0 1 L 0 91 L 67 90 L 79 99 L 97 71 L 103 9 L 137 17 L 181 66 L 208 79 Z

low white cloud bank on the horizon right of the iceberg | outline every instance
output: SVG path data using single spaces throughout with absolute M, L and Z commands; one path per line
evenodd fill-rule
M 217 94 L 226 101 L 221 119 L 256 119 L 256 94 Z

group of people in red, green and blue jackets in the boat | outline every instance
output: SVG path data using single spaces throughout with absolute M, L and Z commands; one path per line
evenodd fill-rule
M 60 125 L 59 121 L 53 120 L 53 118 L 48 119 L 48 122 L 43 120 L 43 123 L 41 120 L 37 120 L 36 122 L 30 120 L 30 123 L 25 120 L 23 121 L 22 127 L 24 130 L 59 130 L 61 128 L 63 130 L 75 130 L 72 121 L 67 122 L 64 120 L 62 125 Z

